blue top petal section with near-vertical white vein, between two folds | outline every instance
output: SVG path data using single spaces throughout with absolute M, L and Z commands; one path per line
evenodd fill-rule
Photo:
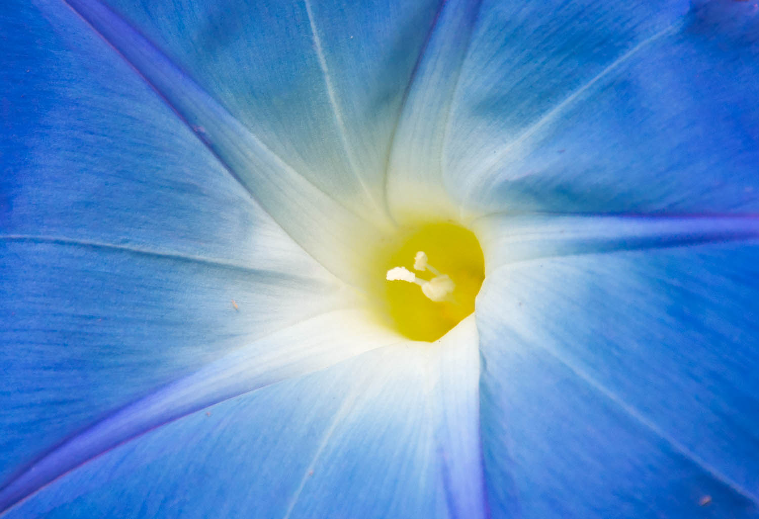
M 308 181 L 384 212 L 405 87 L 439 0 L 109 2 Z

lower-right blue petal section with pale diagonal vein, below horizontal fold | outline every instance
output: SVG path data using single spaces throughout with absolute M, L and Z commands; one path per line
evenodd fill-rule
M 502 266 L 477 309 L 493 517 L 759 516 L 759 243 Z

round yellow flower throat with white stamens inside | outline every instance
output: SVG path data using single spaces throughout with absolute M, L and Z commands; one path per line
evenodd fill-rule
M 477 237 L 467 228 L 430 223 L 405 228 L 379 253 L 383 314 L 416 341 L 436 341 L 474 312 L 485 278 Z

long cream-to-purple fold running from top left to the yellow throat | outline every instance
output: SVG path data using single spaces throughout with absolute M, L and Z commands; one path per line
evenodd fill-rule
M 118 14 L 97 0 L 65 1 L 156 90 L 294 241 L 344 281 L 364 284 L 367 274 L 359 256 L 389 231 L 385 222 L 356 215 L 310 184 Z

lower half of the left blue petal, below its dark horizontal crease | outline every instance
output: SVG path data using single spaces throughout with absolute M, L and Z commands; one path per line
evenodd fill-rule
M 128 248 L 5 241 L 0 257 L 4 483 L 113 408 L 339 302 L 319 280 Z

